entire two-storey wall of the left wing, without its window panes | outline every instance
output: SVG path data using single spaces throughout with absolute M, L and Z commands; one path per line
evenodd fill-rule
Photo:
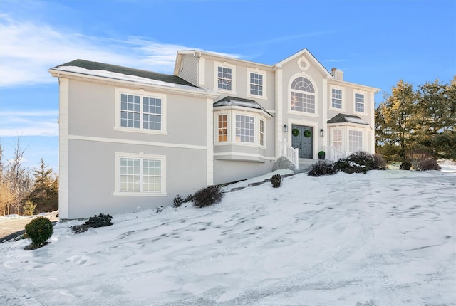
M 165 129 L 118 127 L 120 93 L 160 95 Z M 61 218 L 170 206 L 177 194 L 187 196 L 213 184 L 212 97 L 61 78 L 60 103 Z M 163 157 L 163 192 L 119 193 L 120 156 Z

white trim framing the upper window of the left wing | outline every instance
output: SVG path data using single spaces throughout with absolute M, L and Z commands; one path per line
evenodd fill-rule
M 122 127 L 120 126 L 120 94 L 127 94 L 127 95 L 139 95 L 140 97 L 158 97 L 162 100 L 162 130 L 147 130 L 142 128 L 135 128 L 135 127 Z M 131 90 L 125 88 L 115 88 L 115 123 L 113 130 L 120 131 L 120 132 L 135 132 L 135 133 L 145 133 L 145 134 L 160 134 L 160 135 L 167 135 L 167 101 L 166 95 L 161 93 L 152 93 L 145 90 Z M 141 99 L 141 107 L 142 107 L 142 99 Z M 140 118 L 142 120 L 142 118 Z

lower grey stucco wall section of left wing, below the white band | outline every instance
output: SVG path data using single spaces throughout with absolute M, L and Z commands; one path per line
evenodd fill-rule
M 206 151 L 70 140 L 69 215 L 87 218 L 98 213 L 128 213 L 171 206 L 177 194 L 187 196 L 207 186 Z M 166 157 L 167 196 L 115 196 L 115 153 Z

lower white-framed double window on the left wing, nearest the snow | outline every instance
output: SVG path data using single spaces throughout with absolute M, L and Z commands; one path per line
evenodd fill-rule
M 164 192 L 162 158 L 118 157 L 120 162 L 118 191 L 120 193 Z

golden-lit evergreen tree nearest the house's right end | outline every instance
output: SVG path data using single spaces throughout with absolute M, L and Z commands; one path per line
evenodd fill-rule
M 375 111 L 375 134 L 378 153 L 391 161 L 405 161 L 406 152 L 413 146 L 415 106 L 417 95 L 413 86 L 399 80 L 391 95 Z

